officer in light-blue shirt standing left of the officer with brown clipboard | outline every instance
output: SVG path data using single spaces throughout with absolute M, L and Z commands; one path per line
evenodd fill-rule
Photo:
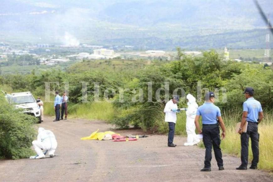
M 214 93 L 206 93 L 205 100 L 206 102 L 197 109 L 195 117 L 195 126 L 199 134 L 203 134 L 203 142 L 206 148 L 205 154 L 205 166 L 201 171 L 211 171 L 211 148 L 213 146 L 215 158 L 219 170 L 224 170 L 222 152 L 220 148 L 220 129 L 219 125 L 222 128 L 222 139 L 226 137 L 226 128 L 225 124 L 221 117 L 221 111 L 219 107 L 214 105 Z M 202 116 L 202 130 L 199 126 L 199 119 Z

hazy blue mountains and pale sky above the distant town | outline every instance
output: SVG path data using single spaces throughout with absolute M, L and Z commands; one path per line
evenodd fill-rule
M 1 0 L 0 24 L 3 41 L 155 49 L 262 48 L 266 32 L 251 0 Z

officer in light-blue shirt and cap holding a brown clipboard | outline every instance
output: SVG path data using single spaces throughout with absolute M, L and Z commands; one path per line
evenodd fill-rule
M 241 134 L 241 165 L 237 170 L 247 170 L 248 164 L 248 146 L 249 137 L 251 139 L 251 149 L 253 153 L 253 160 L 249 169 L 257 169 L 259 162 L 259 133 L 258 124 L 263 119 L 263 110 L 259 101 L 253 98 L 254 89 L 251 87 L 245 88 L 245 98 L 247 99 L 243 104 L 243 116 L 241 120 L 241 127 L 239 134 Z M 243 132 L 242 128 L 247 123 L 247 131 Z

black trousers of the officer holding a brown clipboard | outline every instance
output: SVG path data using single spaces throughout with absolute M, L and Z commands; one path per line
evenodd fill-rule
M 259 162 L 258 123 L 248 122 L 246 133 L 241 134 L 241 162 L 244 167 L 247 167 L 248 164 L 249 137 L 251 139 L 251 149 L 253 153 L 251 165 L 257 166 Z

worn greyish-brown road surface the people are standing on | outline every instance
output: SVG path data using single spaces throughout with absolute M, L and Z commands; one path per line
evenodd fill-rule
M 175 136 L 177 147 L 167 147 L 167 136 L 149 135 L 138 141 L 112 142 L 80 140 L 93 131 L 108 131 L 113 126 L 103 121 L 80 119 L 39 126 L 53 131 L 58 148 L 54 158 L 0 161 L 0 181 L 273 181 L 272 175 L 259 171 L 235 170 L 240 159 L 224 155 L 224 171 L 218 171 L 215 158 L 212 171 L 200 172 L 205 150 L 184 147 L 185 137 Z M 113 129 L 112 129 L 113 131 Z M 117 131 L 139 134 L 139 130 Z

